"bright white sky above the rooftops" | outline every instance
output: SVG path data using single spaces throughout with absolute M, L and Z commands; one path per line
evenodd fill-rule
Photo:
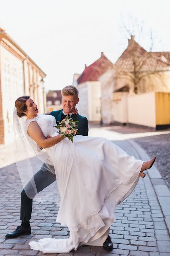
M 47 74 L 46 90 L 72 84 L 101 52 L 114 63 L 127 47 L 122 25 L 143 24 L 142 47 L 170 51 L 169 0 L 0 0 L 0 27 Z

